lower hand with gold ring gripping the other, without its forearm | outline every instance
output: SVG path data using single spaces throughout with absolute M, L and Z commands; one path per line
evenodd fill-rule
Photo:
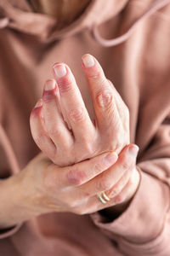
M 23 184 L 29 188 L 29 201 L 39 213 L 55 211 L 81 215 L 126 201 L 138 185 L 137 152 L 138 147 L 130 144 L 123 148 L 118 160 L 112 153 L 110 160 L 105 159 L 108 154 L 100 154 L 73 166 L 58 167 L 49 163 L 44 169 L 31 167 L 23 177 Z M 96 196 L 102 191 L 111 198 L 105 205 Z

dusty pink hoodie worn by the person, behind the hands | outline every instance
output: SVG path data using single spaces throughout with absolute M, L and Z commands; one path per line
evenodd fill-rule
M 32 218 L 1 231 L 0 256 L 169 256 L 170 0 L 92 0 L 61 30 L 26 0 L 0 0 L 0 28 L 0 177 L 20 172 L 39 152 L 29 116 L 54 62 L 65 61 L 82 81 L 92 117 L 79 64 L 85 53 L 96 56 L 129 108 L 141 174 L 118 218 L 100 212 Z

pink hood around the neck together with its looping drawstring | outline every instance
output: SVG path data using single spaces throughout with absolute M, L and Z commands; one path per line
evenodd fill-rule
M 111 20 L 123 10 L 139 3 L 139 12 L 124 15 L 127 19 L 126 31 L 119 38 L 106 40 L 99 35 L 98 26 Z M 42 41 L 49 42 L 56 39 L 69 37 L 83 29 L 90 29 L 99 44 L 110 47 L 121 44 L 138 27 L 142 20 L 153 15 L 158 9 L 163 8 L 170 0 L 91 0 L 77 20 L 62 29 L 58 28 L 58 20 L 52 16 L 34 13 L 26 0 L 0 0 L 0 28 L 11 29 L 32 34 Z M 122 20 L 126 22 L 126 20 Z M 121 26 L 121 24 L 120 24 Z

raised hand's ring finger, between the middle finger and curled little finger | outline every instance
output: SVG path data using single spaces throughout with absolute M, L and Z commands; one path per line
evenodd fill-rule
M 54 144 L 58 148 L 70 148 L 73 137 L 59 110 L 59 89 L 53 79 L 48 80 L 44 86 L 42 109 L 46 130 Z

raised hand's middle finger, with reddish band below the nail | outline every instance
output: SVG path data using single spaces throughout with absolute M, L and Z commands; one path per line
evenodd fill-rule
M 92 139 L 95 127 L 88 115 L 71 69 L 64 63 L 55 64 L 54 77 L 59 86 L 61 105 L 65 109 L 75 138 L 79 142 L 87 137 Z

